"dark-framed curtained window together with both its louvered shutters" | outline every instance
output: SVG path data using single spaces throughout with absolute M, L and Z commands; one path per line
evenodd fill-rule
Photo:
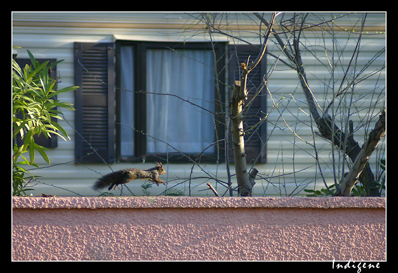
M 225 48 L 215 45 L 216 77 L 208 43 L 75 43 L 76 161 L 222 162 L 225 84 L 232 86 L 239 64 L 259 50 Z M 265 63 L 249 74 L 249 90 L 262 82 Z M 266 128 L 258 125 L 265 97 L 261 91 L 245 111 L 248 162 L 265 162 Z

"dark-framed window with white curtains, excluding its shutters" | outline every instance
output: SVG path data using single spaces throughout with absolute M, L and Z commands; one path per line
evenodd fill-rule
M 117 52 L 120 158 L 214 159 L 223 129 L 210 46 L 123 41 Z

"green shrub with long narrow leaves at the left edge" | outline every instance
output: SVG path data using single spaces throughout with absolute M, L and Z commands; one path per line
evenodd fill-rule
M 33 175 L 24 166 L 34 163 L 35 152 L 50 164 L 43 146 L 35 143 L 34 136 L 50 134 L 60 136 L 62 139 L 70 139 L 64 128 L 52 120 L 62 120 L 58 108 L 75 110 L 72 104 L 60 102 L 56 96 L 63 92 L 75 90 L 78 86 L 70 86 L 56 90 L 56 79 L 49 77 L 49 69 L 62 62 L 59 60 L 51 65 L 49 61 L 39 64 L 33 55 L 27 51 L 32 66 L 26 65 L 20 68 L 12 60 L 12 194 L 26 195 L 29 182 L 34 181 Z M 20 136 L 21 141 L 16 141 Z M 29 159 L 24 153 L 28 153 Z

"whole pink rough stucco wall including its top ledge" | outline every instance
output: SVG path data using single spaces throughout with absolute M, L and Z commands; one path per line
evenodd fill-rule
M 13 260 L 386 259 L 384 198 L 12 198 Z

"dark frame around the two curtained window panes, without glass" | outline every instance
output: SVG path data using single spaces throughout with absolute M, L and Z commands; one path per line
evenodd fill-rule
M 132 46 L 133 47 L 133 58 L 134 58 L 134 155 L 133 156 L 122 156 L 120 152 L 120 48 L 121 46 Z M 218 74 L 219 81 L 219 94 L 214 86 L 214 102 L 215 102 L 215 113 L 219 115 L 215 116 L 216 122 L 216 137 L 218 143 L 216 144 L 215 152 L 211 155 L 199 154 L 201 162 L 216 162 L 224 160 L 224 135 L 225 127 L 221 117 L 221 113 L 225 111 L 225 43 L 214 44 L 214 52 L 216 55 L 216 71 Z M 116 158 L 121 162 L 142 162 L 142 161 L 168 161 L 168 162 L 188 162 L 191 160 L 199 159 L 196 154 L 188 153 L 165 153 L 165 154 L 147 154 L 146 153 L 146 137 L 142 132 L 146 132 L 146 94 L 145 92 L 138 92 L 140 90 L 146 90 L 146 51 L 148 49 L 207 49 L 211 50 L 211 44 L 206 42 L 148 42 L 148 41 L 126 41 L 117 40 L 115 41 L 116 49 Z M 221 72 L 219 72 L 221 71 Z M 218 97 L 218 98 L 217 98 Z M 218 152 L 217 152 L 218 150 Z

